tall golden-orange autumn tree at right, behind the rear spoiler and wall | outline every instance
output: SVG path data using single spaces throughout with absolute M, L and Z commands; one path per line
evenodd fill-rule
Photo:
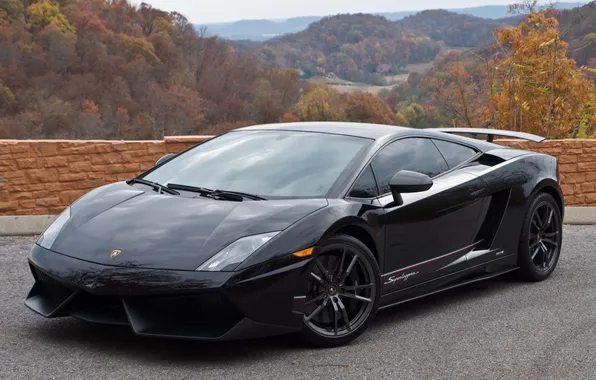
M 538 11 L 536 0 L 515 9 L 526 18 L 495 32 L 502 56 L 493 63 L 499 73 L 489 104 L 495 126 L 548 138 L 594 133 L 594 83 L 566 56 L 557 19 L 548 10 Z

